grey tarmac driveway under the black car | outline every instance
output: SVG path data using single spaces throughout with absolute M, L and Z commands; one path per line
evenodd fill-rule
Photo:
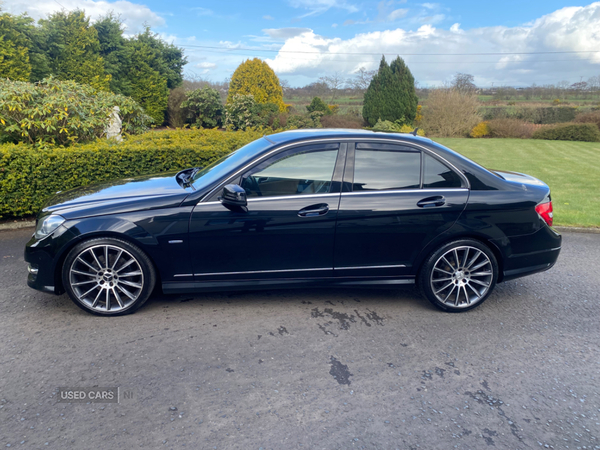
M 0 232 L 0 447 L 600 449 L 600 234 L 565 233 L 552 270 L 464 314 L 307 289 L 102 318 L 27 288 L 31 232 Z

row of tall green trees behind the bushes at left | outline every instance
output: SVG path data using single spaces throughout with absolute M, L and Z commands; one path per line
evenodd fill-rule
M 181 85 L 182 49 L 150 27 L 127 37 L 110 13 L 92 23 L 84 11 L 60 11 L 37 23 L 0 13 L 0 77 L 39 82 L 53 77 L 133 98 L 161 125 L 169 90 Z

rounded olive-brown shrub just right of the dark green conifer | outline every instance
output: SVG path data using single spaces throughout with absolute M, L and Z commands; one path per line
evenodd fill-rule
M 432 136 L 468 136 L 481 122 L 479 102 L 475 94 L 460 93 L 455 89 L 435 89 L 430 92 L 423 108 L 423 127 Z

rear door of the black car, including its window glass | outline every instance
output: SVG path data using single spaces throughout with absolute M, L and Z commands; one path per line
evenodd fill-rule
M 348 146 L 335 274 L 409 275 L 420 250 L 465 208 L 466 181 L 419 148 L 369 142 Z

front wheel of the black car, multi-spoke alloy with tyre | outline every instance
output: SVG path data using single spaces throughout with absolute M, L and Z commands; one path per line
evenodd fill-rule
M 83 310 L 119 316 L 134 312 L 148 300 L 156 271 L 135 245 L 98 238 L 71 249 L 62 268 L 62 281 L 71 300 Z

